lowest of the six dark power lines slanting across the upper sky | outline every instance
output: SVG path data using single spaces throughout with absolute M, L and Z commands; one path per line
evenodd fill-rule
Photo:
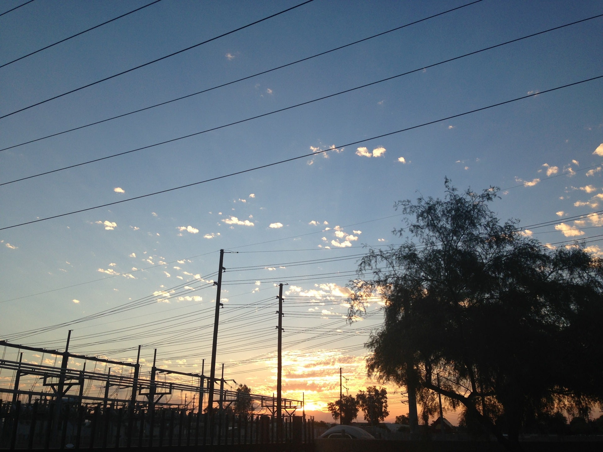
M 411 127 L 406 127 L 406 128 L 400 129 L 400 130 L 394 130 L 393 132 L 376 135 L 376 136 L 373 136 L 373 137 L 370 137 L 370 138 L 366 138 L 366 139 L 362 139 L 362 140 L 357 140 L 357 141 L 353 141 L 353 142 L 350 142 L 350 143 L 344 143 L 344 144 L 335 146 L 333 148 L 321 149 L 320 151 L 317 151 L 317 152 L 311 152 L 309 154 L 298 155 L 297 157 L 291 157 L 290 159 L 279 160 L 278 162 L 267 163 L 266 165 L 260 165 L 260 166 L 254 167 L 254 168 L 243 169 L 241 171 L 235 171 L 235 172 L 232 172 L 232 173 L 229 173 L 229 174 L 224 174 L 224 175 L 221 175 L 221 176 L 218 176 L 218 177 L 212 177 L 212 178 L 209 178 L 209 179 L 206 179 L 206 180 L 202 180 L 202 181 L 193 182 L 193 183 L 190 183 L 190 184 L 181 185 L 181 186 L 178 186 L 178 187 L 172 187 L 170 189 L 159 190 L 158 192 L 147 193 L 146 195 L 133 196 L 132 198 L 122 199 L 121 201 L 107 202 L 106 204 L 101 204 L 100 206 L 86 207 L 85 209 L 73 210 L 72 212 L 61 213 L 59 215 L 52 215 L 52 216 L 48 216 L 48 217 L 45 217 L 45 218 L 39 218 L 39 219 L 35 219 L 35 220 L 31 220 L 31 221 L 26 221 L 26 222 L 19 223 L 19 224 L 14 224 L 14 225 L 11 225 L 11 226 L 5 226 L 5 227 L 0 228 L 0 231 L 5 230 L 5 229 L 16 228 L 16 227 L 19 227 L 19 226 L 24 226 L 24 225 L 27 225 L 27 224 L 33 224 L 33 223 L 37 223 L 37 222 L 40 222 L 40 221 L 46 221 L 46 220 L 49 220 L 49 219 L 60 218 L 62 216 L 74 215 L 75 213 L 81 213 L 81 212 L 87 212 L 89 210 L 100 209 L 101 207 L 115 206 L 115 204 L 121 204 L 122 202 L 128 202 L 128 201 L 134 201 L 134 199 L 148 198 L 149 196 L 160 195 L 161 193 L 168 193 L 168 192 L 172 192 L 174 190 L 180 190 L 180 189 L 183 189 L 183 188 L 186 188 L 186 187 L 192 187 L 192 186 L 195 186 L 195 185 L 200 185 L 200 184 L 204 184 L 204 183 L 208 183 L 208 182 L 212 182 L 212 181 L 216 181 L 216 180 L 221 180 L 221 179 L 224 179 L 224 178 L 227 178 L 227 177 L 232 177 L 232 176 L 236 176 L 236 175 L 239 175 L 239 174 L 245 174 L 245 173 L 251 172 L 251 171 L 256 171 L 258 169 L 270 168 L 271 166 L 281 165 L 282 163 L 293 162 L 294 160 L 305 159 L 306 157 L 312 157 L 314 155 L 322 154 L 324 152 L 334 151 L 335 149 L 343 148 L 343 147 L 346 147 L 346 146 L 353 146 L 353 145 L 357 145 L 359 143 L 365 143 L 365 142 L 368 142 L 370 140 L 374 140 L 374 139 L 378 139 L 378 138 L 383 138 L 383 137 L 391 136 L 391 135 L 402 133 L 402 132 L 406 132 L 406 131 L 409 131 L 409 130 L 414 130 L 414 129 L 417 129 L 417 128 L 420 128 L 420 127 L 425 127 L 426 125 L 437 124 L 438 122 L 448 121 L 449 119 L 453 119 L 453 118 L 460 118 L 461 116 L 466 116 L 466 115 L 470 115 L 472 113 L 477 113 L 478 111 L 488 110 L 489 108 L 500 107 L 500 105 L 507 105 L 507 104 L 510 104 L 511 102 L 517 102 L 517 101 L 520 101 L 522 99 L 526 99 L 526 98 L 530 98 L 530 97 L 534 97 L 534 96 L 541 96 L 541 95 L 543 95 L 545 93 L 550 93 L 550 92 L 557 91 L 557 90 L 560 90 L 560 89 L 564 89 L 564 88 L 567 88 L 567 87 L 570 87 L 570 86 L 576 86 L 576 85 L 579 85 L 579 84 L 582 84 L 582 83 L 587 83 L 587 82 L 593 81 L 593 80 L 599 80 L 600 78 L 603 78 L 603 75 L 597 75 L 596 77 L 590 77 L 590 78 L 587 78 L 585 80 L 576 81 L 576 82 L 573 82 L 573 83 L 568 83 L 568 84 L 557 86 L 555 88 L 551 88 L 551 89 L 547 89 L 547 90 L 542 90 L 539 93 L 533 93 L 533 94 L 528 94 L 528 95 L 525 95 L 525 96 L 520 96 L 520 97 L 517 97 L 517 98 L 514 98 L 514 99 L 510 99 L 508 101 L 497 102 L 496 104 L 487 105 L 486 107 L 475 108 L 473 110 L 464 111 L 463 113 L 458 113 L 456 115 L 446 116 L 446 118 L 440 118 L 440 119 L 435 119 L 434 121 L 423 122 L 422 124 L 413 125 Z

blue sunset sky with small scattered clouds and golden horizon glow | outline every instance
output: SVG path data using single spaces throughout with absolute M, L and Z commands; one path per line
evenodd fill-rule
M 379 385 L 363 344 L 382 302 L 350 324 L 346 300 L 366 247 L 404 239 L 394 202 L 443 197 L 445 177 L 496 186 L 500 219 L 601 254 L 603 217 L 585 215 L 603 205 L 603 79 L 584 80 L 603 75 L 603 17 L 437 63 L 602 2 L 482 0 L 349 45 L 465 3 L 314 0 L 60 96 L 301 3 L 162 0 L 11 63 L 148 3 L 36 0 L 0 16 L 0 339 L 63 350 L 73 329 L 74 353 L 127 360 L 142 345 L 145 365 L 157 348 L 161 366 L 198 372 L 223 249 L 218 366 L 276 391 L 286 284 L 283 397 L 318 413 L 339 368 L 350 394 Z M 393 420 L 408 406 L 387 388 Z

